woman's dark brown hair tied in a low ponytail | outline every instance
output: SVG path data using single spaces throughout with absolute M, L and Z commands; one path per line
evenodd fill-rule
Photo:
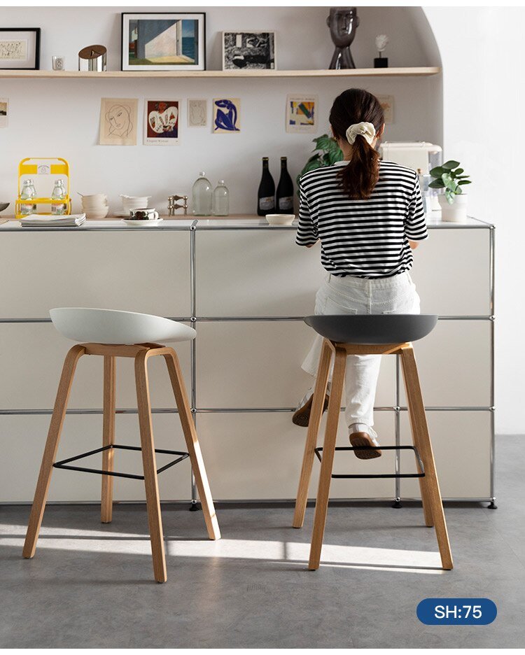
M 364 89 L 348 89 L 334 100 L 330 125 L 336 139 L 346 141 L 346 130 L 358 122 L 371 122 L 376 132 L 384 124 L 379 100 Z M 370 198 L 379 179 L 379 154 L 361 134 L 352 146 L 352 158 L 339 173 L 344 191 L 356 200 Z

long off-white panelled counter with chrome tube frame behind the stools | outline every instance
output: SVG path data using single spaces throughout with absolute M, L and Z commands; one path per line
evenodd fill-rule
M 433 220 L 428 227 L 430 238 L 414 252 L 410 274 L 422 311 L 440 316 L 415 350 L 442 494 L 490 500 L 494 230 L 475 219 Z M 29 501 L 34 493 L 60 369 L 71 347 L 50 325 L 48 311 L 68 306 L 142 311 L 193 325 L 195 341 L 177 345 L 177 351 L 214 497 L 293 498 L 305 430 L 290 419 L 310 385 L 300 364 L 313 337 L 302 317 L 313 313 L 325 277 L 319 245 L 298 248 L 295 230 L 249 216 L 166 218 L 151 227 L 127 227 L 118 219 L 89 220 L 82 227 L 2 223 L 0 502 Z M 83 358 L 78 367 L 61 458 L 94 449 L 102 439 L 98 359 Z M 150 378 L 155 442 L 177 448 L 183 438 L 174 401 L 156 362 Z M 385 357 L 375 413 L 383 444 L 409 442 L 399 382 L 396 358 Z M 137 444 L 132 362 L 118 362 L 117 388 L 118 442 Z M 339 445 L 347 444 L 343 423 L 339 432 Z M 341 457 L 341 472 L 362 472 L 364 465 L 373 473 L 414 467 L 413 458 L 395 460 L 386 451 L 365 464 Z M 140 469 L 126 451 L 119 451 L 117 465 Z M 99 485 L 95 476 L 61 470 L 53 475 L 50 499 L 96 501 Z M 166 500 L 190 498 L 188 465 L 168 470 L 160 486 Z M 116 480 L 116 499 L 141 500 L 143 494 L 140 482 Z M 334 480 L 332 496 L 417 498 L 419 485 L 412 479 Z

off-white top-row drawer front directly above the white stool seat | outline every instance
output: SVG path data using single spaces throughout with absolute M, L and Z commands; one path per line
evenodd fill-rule
M 52 307 L 190 316 L 186 232 L 0 234 L 0 274 L 3 318 L 48 318 Z

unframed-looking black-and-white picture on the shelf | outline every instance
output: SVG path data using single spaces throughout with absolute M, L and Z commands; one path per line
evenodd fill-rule
M 240 69 L 276 69 L 275 32 L 223 32 L 223 71 Z

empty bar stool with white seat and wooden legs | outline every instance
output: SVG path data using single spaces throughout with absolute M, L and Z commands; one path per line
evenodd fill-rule
M 197 432 L 193 424 L 190 404 L 186 394 L 179 359 L 173 348 L 161 346 L 156 341 L 189 341 L 195 338 L 195 330 L 176 321 L 149 314 L 137 314 L 131 311 L 116 311 L 111 309 L 89 309 L 84 307 L 62 307 L 51 309 L 50 316 L 53 325 L 64 337 L 73 341 L 85 341 L 73 346 L 66 355 L 62 376 L 60 377 L 53 409 L 48 439 L 45 444 L 40 474 L 29 516 L 29 526 L 25 538 L 23 555 L 25 558 L 34 556 L 36 541 L 42 523 L 45 501 L 53 467 L 70 470 L 84 470 L 102 473 L 102 523 L 110 523 L 113 512 L 113 477 L 134 477 L 144 479 L 146 486 L 146 505 L 150 530 L 151 550 L 153 554 L 153 572 L 157 582 L 165 582 L 166 558 L 164 551 L 164 536 L 162 533 L 162 518 L 157 474 L 168 467 L 190 458 L 195 483 L 199 492 L 204 521 L 206 522 L 210 539 L 220 539 L 211 498 L 204 460 L 200 450 Z M 83 355 L 101 355 L 104 358 L 104 422 L 102 448 L 80 456 L 72 457 L 62 462 L 55 462 L 60 433 L 66 414 L 69 392 L 78 360 Z M 169 378 L 172 383 L 175 400 L 179 409 L 184 438 L 188 452 L 155 451 L 153 428 L 151 424 L 151 404 L 148 387 L 148 359 L 162 355 L 165 358 Z M 137 404 L 139 409 L 139 427 L 141 447 L 118 446 L 115 444 L 115 378 L 116 358 L 133 357 L 135 360 L 135 382 L 137 386 Z M 113 453 L 115 449 L 124 448 L 142 452 L 144 476 L 135 476 L 113 471 Z M 96 471 L 73 466 L 72 462 L 102 452 L 102 470 Z M 176 455 L 176 459 L 157 470 L 155 452 Z

